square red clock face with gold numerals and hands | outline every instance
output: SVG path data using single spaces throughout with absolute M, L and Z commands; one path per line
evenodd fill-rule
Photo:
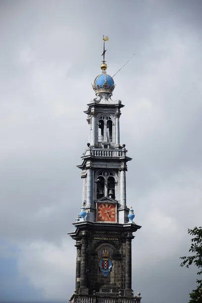
M 116 205 L 112 203 L 97 203 L 97 221 L 116 222 Z

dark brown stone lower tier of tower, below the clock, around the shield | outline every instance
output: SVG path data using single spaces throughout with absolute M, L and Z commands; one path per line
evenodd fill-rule
M 73 223 L 73 225 L 76 231 L 69 235 L 76 240 L 77 247 L 77 294 L 96 293 L 98 297 L 122 295 L 133 298 L 131 240 L 134 238 L 133 232 L 141 226 L 134 223 L 102 224 L 88 221 Z M 112 263 L 106 277 L 100 270 L 100 260 L 105 249 L 108 251 L 105 260 L 110 259 L 109 262 Z

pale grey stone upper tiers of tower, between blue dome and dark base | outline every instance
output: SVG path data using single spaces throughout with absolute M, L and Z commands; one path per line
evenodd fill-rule
M 120 145 L 120 116 L 124 105 L 113 101 L 110 94 L 100 93 L 84 112 L 89 124 L 89 143 L 77 167 L 82 170 L 82 202 L 86 220 L 96 222 L 96 205 L 100 198 L 111 197 L 117 204 L 117 223 L 128 222 L 126 206 L 127 156 L 125 144 Z M 101 180 L 101 181 L 100 181 Z M 110 194 L 111 193 L 111 194 Z M 119 212 L 120 210 L 120 212 Z

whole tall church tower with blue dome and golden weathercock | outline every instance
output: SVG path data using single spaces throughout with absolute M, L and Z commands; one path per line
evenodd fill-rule
M 137 303 L 131 288 L 131 240 L 141 226 L 126 204 L 127 156 L 120 145 L 120 100 L 113 100 L 114 79 L 107 74 L 104 37 L 102 72 L 92 88 L 96 97 L 84 112 L 89 143 L 81 169 L 83 201 L 69 235 L 76 241 L 76 287 L 72 303 Z

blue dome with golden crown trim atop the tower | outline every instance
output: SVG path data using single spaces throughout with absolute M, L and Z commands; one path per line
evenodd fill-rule
M 103 74 L 98 75 L 94 79 L 94 83 L 92 88 L 95 91 L 95 94 L 100 92 L 108 92 L 112 93 L 114 90 L 114 80 L 110 75 L 107 75 L 105 72 Z

